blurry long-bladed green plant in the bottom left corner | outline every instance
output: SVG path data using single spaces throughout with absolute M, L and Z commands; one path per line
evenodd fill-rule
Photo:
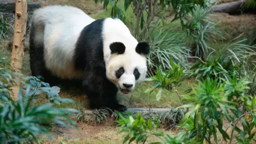
M 29 101 L 30 90 L 25 95 L 19 94 L 17 103 L 10 101 L 4 93 L 0 94 L 0 141 L 1 143 L 20 143 L 36 141 L 37 134 L 47 134 L 49 130 L 41 123 L 54 122 L 60 126 L 75 126 L 75 123 L 66 115 L 77 113 L 75 109 L 59 109 L 51 107 L 51 103 L 41 106 L 31 106 Z M 24 98 L 23 98 L 24 97 Z M 9 99 L 9 102 L 6 100 Z

